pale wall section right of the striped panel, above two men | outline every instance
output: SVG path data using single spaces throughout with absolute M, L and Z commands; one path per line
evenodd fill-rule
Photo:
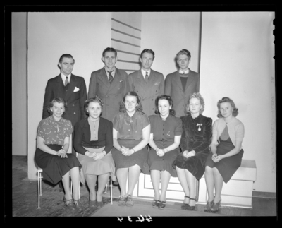
M 155 54 L 152 69 L 164 74 L 177 70 L 174 58 L 181 49 L 191 52 L 189 68 L 198 72 L 199 66 L 199 12 L 142 13 L 141 52 L 152 49 Z

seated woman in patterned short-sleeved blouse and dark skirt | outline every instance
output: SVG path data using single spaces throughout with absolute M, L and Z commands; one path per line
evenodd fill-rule
M 66 102 L 54 98 L 49 104 L 52 115 L 40 121 L 37 129 L 37 149 L 35 162 L 42 168 L 44 179 L 57 184 L 63 181 L 65 196 L 63 201 L 68 208 L 80 208 L 79 184 L 81 164 L 75 155 L 67 154 L 73 126 L 71 121 L 61 117 L 66 111 Z M 70 191 L 70 172 L 73 182 L 73 196 Z

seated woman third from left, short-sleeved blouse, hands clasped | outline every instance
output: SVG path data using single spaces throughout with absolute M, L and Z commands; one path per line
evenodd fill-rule
M 116 177 L 121 188 L 118 205 L 133 206 L 133 189 L 139 179 L 140 169 L 147 170 L 150 124 L 136 92 L 127 92 L 120 106 L 120 114 L 114 117 L 113 158 Z M 149 170 L 147 170 L 149 172 Z M 128 189 L 126 182 L 128 179 Z

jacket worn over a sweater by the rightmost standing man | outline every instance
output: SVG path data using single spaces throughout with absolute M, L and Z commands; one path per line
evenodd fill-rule
M 186 114 L 185 109 L 187 102 L 194 92 L 199 92 L 199 86 L 199 73 L 191 71 L 190 69 L 184 91 L 178 71 L 166 76 L 164 94 L 171 96 L 171 99 L 173 100 L 173 109 L 176 111 L 176 117 L 184 116 Z

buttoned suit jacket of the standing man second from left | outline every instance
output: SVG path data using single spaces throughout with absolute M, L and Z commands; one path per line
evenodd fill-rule
M 112 83 L 109 83 L 104 67 L 91 73 L 88 98 L 97 95 L 103 100 L 102 117 L 109 121 L 113 121 L 114 116 L 119 113 L 120 102 L 128 91 L 128 74 L 125 71 L 116 68 Z

